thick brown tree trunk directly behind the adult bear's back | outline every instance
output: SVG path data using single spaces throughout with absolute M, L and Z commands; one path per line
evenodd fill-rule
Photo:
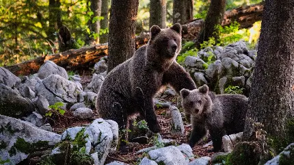
M 109 18 L 109 62 L 107 73 L 135 52 L 135 21 L 139 0 L 112 0 Z

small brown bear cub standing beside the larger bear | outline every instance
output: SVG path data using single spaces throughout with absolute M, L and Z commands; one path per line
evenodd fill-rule
M 244 129 L 248 98 L 241 94 L 214 94 L 204 85 L 194 90 L 181 90 L 185 114 L 191 116 L 189 145 L 206 135 L 213 141 L 213 151 L 222 149 L 222 136 L 237 134 Z

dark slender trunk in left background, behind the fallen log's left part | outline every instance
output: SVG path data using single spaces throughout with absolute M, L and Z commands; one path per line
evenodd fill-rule
M 62 27 L 62 15 L 59 0 L 49 0 L 49 28 L 46 32 L 51 42 L 55 41 L 55 31 Z

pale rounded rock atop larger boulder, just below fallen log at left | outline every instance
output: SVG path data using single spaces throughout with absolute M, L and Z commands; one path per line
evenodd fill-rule
M 45 79 L 46 77 L 49 77 L 49 75 L 52 74 L 60 75 L 61 77 L 64 77 L 64 79 L 68 79 L 68 73 L 64 68 L 57 66 L 57 64 L 48 60 L 40 67 L 38 71 L 38 77 L 40 77 L 40 79 Z

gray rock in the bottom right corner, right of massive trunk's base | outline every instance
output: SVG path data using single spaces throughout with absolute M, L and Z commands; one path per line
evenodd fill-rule
M 293 160 L 293 152 L 294 152 L 294 143 L 289 144 L 284 151 L 282 151 L 279 155 L 276 157 L 273 157 L 273 159 L 269 160 L 265 165 L 279 165 L 280 164 L 280 158 L 283 157 L 284 160 Z

